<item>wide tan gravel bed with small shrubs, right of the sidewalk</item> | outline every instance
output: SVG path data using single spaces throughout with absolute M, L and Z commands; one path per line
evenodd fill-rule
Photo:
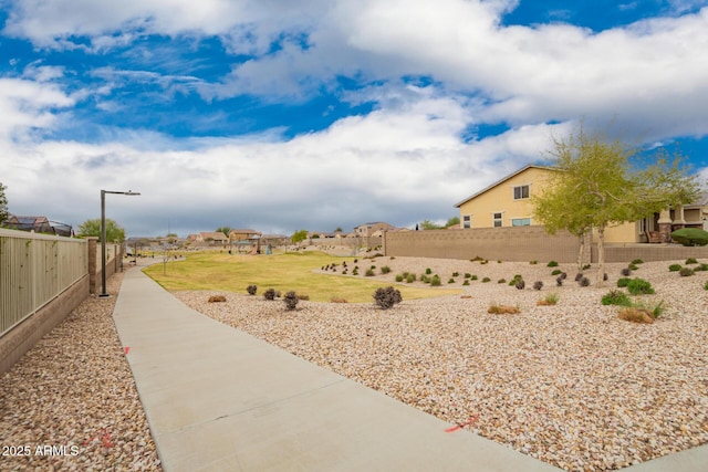
M 335 262 L 333 258 L 333 262 Z M 369 260 L 361 261 L 369 263 Z M 464 295 L 372 304 L 302 301 L 285 311 L 248 295 L 179 292 L 195 310 L 450 423 L 571 471 L 616 470 L 708 442 L 708 272 L 681 277 L 670 263 L 638 264 L 654 295 L 632 296 L 664 314 L 654 324 L 617 317 L 602 295 L 626 264 L 608 264 L 604 289 L 574 282 L 573 264 L 378 258 L 392 271 L 438 273 Z M 706 261 L 699 261 L 706 262 Z M 352 261 L 348 261 L 350 265 Z M 368 265 L 362 266 L 368 266 Z M 554 269 L 568 280 L 556 287 Z M 446 284 L 454 272 L 454 284 Z M 462 286 L 464 274 L 478 276 Z M 516 274 L 524 290 L 509 286 Z M 343 276 L 333 274 L 332 276 Z M 491 281 L 482 283 L 487 276 Z M 506 279 L 507 283 L 497 283 Z M 533 283 L 542 281 L 540 291 Z M 419 283 L 419 282 L 415 282 Z M 550 293 L 555 306 L 538 306 Z M 208 303 L 223 295 L 226 303 Z M 519 314 L 489 314 L 492 304 Z

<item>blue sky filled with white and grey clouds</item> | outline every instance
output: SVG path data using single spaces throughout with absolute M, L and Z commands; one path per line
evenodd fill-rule
M 708 177 L 708 0 L 0 0 L 10 211 L 414 227 L 586 127 Z

